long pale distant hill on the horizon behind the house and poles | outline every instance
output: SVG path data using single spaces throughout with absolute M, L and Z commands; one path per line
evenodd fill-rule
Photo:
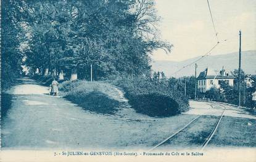
M 181 69 L 183 66 L 192 63 L 200 57 L 201 56 L 184 61 L 153 61 L 152 69 L 154 71 L 163 71 L 167 77 L 170 77 L 174 72 L 178 71 L 178 69 Z M 207 56 L 197 62 L 197 76 L 207 67 L 217 70 L 224 66 L 225 69 L 233 71 L 234 69 L 238 69 L 238 60 L 238 52 Z M 256 50 L 242 52 L 241 68 L 246 72 L 246 74 L 256 74 Z M 173 75 L 173 77 L 189 76 L 194 74 L 195 66 L 192 64 L 178 72 L 176 75 Z

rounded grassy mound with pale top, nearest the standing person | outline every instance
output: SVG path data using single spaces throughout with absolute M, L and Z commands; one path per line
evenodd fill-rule
M 59 90 L 65 92 L 64 98 L 99 114 L 115 114 L 120 106 L 120 102 L 112 98 L 114 87 L 108 83 L 65 81 L 60 84 Z

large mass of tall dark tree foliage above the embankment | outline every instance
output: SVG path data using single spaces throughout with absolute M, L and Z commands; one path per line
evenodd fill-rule
M 141 75 L 151 71 L 155 48 L 171 49 L 158 38 L 153 0 L 10 2 L 4 12 L 16 20 L 10 25 L 20 28 L 15 31 L 23 36 L 25 65 L 41 74 L 49 69 L 68 75 L 76 69 L 80 78 L 88 79 L 92 64 L 94 79 Z

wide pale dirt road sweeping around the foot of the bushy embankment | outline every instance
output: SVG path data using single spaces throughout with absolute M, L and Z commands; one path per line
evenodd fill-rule
M 221 112 L 207 102 L 192 101 L 189 112 L 168 118 L 148 117 L 129 107 L 115 115 L 96 114 L 59 96 L 47 95 L 47 87 L 35 80 L 20 81 L 8 92 L 13 99 L 12 107 L 2 118 L 2 149 L 148 149 L 197 115 Z M 250 128 L 255 128 L 255 116 L 234 107 L 229 109 L 226 116 L 248 118 L 253 121 Z M 228 134 L 225 130 L 221 129 L 222 134 Z

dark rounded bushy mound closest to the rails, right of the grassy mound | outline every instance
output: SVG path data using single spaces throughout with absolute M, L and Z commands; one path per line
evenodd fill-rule
M 154 82 L 136 77 L 133 80 L 118 79 L 114 84 L 123 88 L 125 97 L 136 112 L 152 117 L 168 117 L 189 110 L 188 98 L 169 80 Z

